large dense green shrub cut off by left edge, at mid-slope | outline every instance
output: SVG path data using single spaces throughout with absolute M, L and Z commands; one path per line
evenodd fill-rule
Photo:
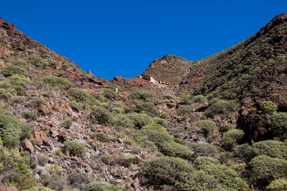
M 31 129 L 24 126 L 13 113 L 0 109 L 0 136 L 4 145 L 14 146 L 20 140 L 30 138 Z

